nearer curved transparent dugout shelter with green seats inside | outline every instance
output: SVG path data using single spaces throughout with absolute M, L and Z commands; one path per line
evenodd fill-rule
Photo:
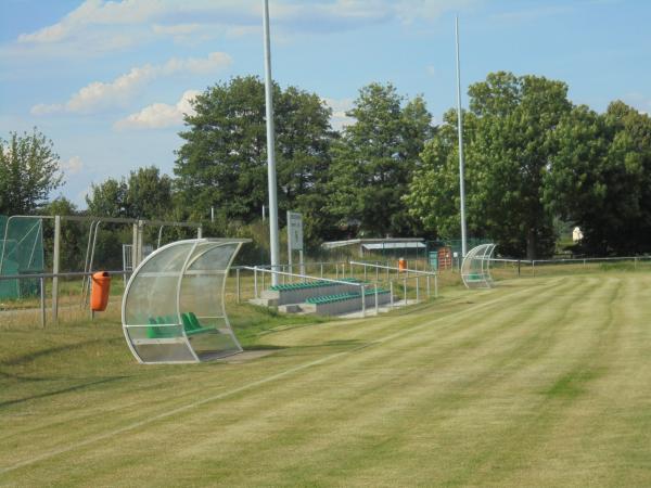
M 245 239 L 192 239 L 156 249 L 133 271 L 122 321 L 143 363 L 200 362 L 242 351 L 226 314 L 229 268 Z

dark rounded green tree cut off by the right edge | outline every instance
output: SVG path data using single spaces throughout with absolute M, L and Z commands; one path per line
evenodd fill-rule
M 579 226 L 591 255 L 651 251 L 651 118 L 623 102 L 577 106 L 556 130 L 548 207 Z

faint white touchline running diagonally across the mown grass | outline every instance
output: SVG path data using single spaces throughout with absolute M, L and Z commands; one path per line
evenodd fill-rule
M 554 283 L 557 281 L 559 281 L 559 280 L 554 280 Z M 546 288 L 550 287 L 554 283 L 550 283 L 549 285 L 546 285 L 545 287 Z M 336 359 L 336 358 L 340 358 L 342 356 L 349 355 L 349 354 L 353 354 L 353 352 L 357 352 L 357 351 L 359 351 L 361 349 L 365 349 L 367 347 L 370 347 L 370 346 L 384 344 L 387 341 L 393 341 L 393 339 L 395 339 L 397 337 L 400 337 L 403 335 L 407 335 L 407 334 L 413 333 L 416 331 L 419 331 L 419 330 L 421 330 L 423 328 L 430 326 L 430 325 L 432 325 L 432 324 L 434 324 L 436 322 L 439 322 L 442 320 L 455 319 L 455 318 L 457 318 L 459 316 L 463 316 L 463 314 L 467 314 L 469 312 L 473 312 L 473 311 L 475 311 L 477 309 L 481 309 L 481 308 L 484 308 L 484 307 L 488 307 L 490 305 L 495 305 L 497 303 L 503 301 L 507 298 L 512 298 L 513 296 L 521 295 L 521 294 L 523 294 L 525 292 L 529 292 L 529 291 L 531 291 L 531 288 L 525 288 L 525 290 L 521 290 L 521 291 L 518 291 L 518 292 L 513 292 L 513 293 L 510 293 L 510 294 L 508 294 L 506 296 L 502 296 L 500 298 L 496 298 L 496 299 L 493 299 L 493 300 L 489 300 L 489 301 L 484 301 L 483 304 L 477 304 L 477 305 L 475 305 L 473 307 L 470 307 L 470 308 L 467 308 L 464 310 L 460 310 L 458 312 L 454 312 L 454 313 L 450 313 L 450 314 L 447 314 L 447 316 L 438 317 L 436 319 L 430 320 L 430 321 L 427 321 L 425 323 L 422 323 L 420 325 L 414 325 L 414 326 L 412 326 L 410 329 L 404 329 L 404 330 L 401 330 L 399 332 L 395 332 L 393 334 L 388 334 L 388 335 L 386 335 L 384 337 L 381 337 L 379 339 L 375 339 L 375 341 L 373 341 L 371 343 L 363 344 L 361 346 L 357 346 L 357 347 L 354 347 L 352 349 L 347 349 L 347 350 L 344 350 L 344 351 L 341 351 L 341 352 L 333 352 L 330 356 L 326 356 L 326 357 L 323 357 L 321 359 L 317 359 L 315 361 L 310 361 L 310 362 L 307 362 L 305 364 L 299 364 L 297 367 L 290 368 L 289 370 L 282 371 L 280 373 L 272 374 L 271 376 L 267 376 L 267 377 L 261 378 L 261 380 L 257 380 L 255 382 L 248 383 L 247 385 L 243 385 L 243 386 L 240 386 L 238 388 L 231 389 L 230 391 L 225 391 L 225 393 L 221 393 L 221 394 L 218 394 L 218 395 L 213 395 L 212 397 L 204 398 L 203 400 L 196 400 L 196 401 L 193 401 L 193 402 L 188 403 L 186 406 L 177 407 L 176 409 L 173 409 L 173 410 L 167 410 L 167 411 L 165 411 L 163 413 L 159 413 L 157 415 L 149 416 L 145 420 L 133 422 L 133 423 L 131 423 L 129 425 L 116 428 L 116 429 L 111 431 L 111 432 L 108 432 L 106 434 L 101 434 L 101 435 L 91 437 L 89 439 L 81 440 L 79 442 L 68 445 L 68 446 L 66 446 L 64 448 L 61 448 L 61 449 L 54 449 L 54 450 L 51 450 L 49 452 L 44 452 L 43 454 L 36 455 L 36 457 L 27 459 L 25 461 L 17 462 L 15 464 L 12 464 L 11 466 L 1 467 L 0 468 L 0 474 L 9 473 L 11 471 L 15 471 L 15 470 L 18 470 L 21 467 L 28 466 L 29 464 L 34 464 L 34 463 L 37 463 L 39 461 L 43 461 L 46 459 L 53 458 L 55 455 L 73 451 L 75 449 L 79 449 L 81 447 L 89 446 L 89 445 L 94 444 L 94 442 L 99 442 L 100 440 L 108 439 L 108 438 L 117 436 L 119 434 L 124 434 L 126 432 L 133 431 L 136 428 L 142 427 L 142 426 L 151 424 L 153 422 L 156 422 L 156 421 L 159 421 L 159 420 L 163 420 L 163 419 L 167 419 L 169 416 L 173 416 L 173 415 L 176 415 L 178 413 L 184 412 L 187 410 L 200 407 L 202 404 L 209 403 L 209 402 L 216 401 L 216 400 L 221 400 L 224 398 L 228 398 L 228 397 L 237 395 L 237 394 L 239 394 L 241 391 L 246 391 L 247 389 L 254 388 L 256 386 L 265 385 L 267 383 L 273 382 L 273 381 L 279 380 L 281 377 L 291 375 L 292 373 L 296 373 L 298 371 L 303 371 L 303 370 L 306 370 L 308 368 L 311 368 L 311 367 L 315 367 L 315 365 L 319 365 L 319 364 L 322 364 L 324 362 L 332 361 L 333 359 Z

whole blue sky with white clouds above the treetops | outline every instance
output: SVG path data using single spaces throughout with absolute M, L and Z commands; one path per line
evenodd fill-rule
M 602 112 L 651 112 L 646 0 L 270 0 L 272 76 L 318 93 L 343 127 L 358 90 L 422 94 L 435 121 L 490 72 L 565 81 Z M 261 0 L 0 0 L 0 138 L 36 127 L 61 158 L 63 195 L 154 165 L 173 175 L 192 98 L 264 76 Z M 463 104 L 468 98 L 463 95 Z

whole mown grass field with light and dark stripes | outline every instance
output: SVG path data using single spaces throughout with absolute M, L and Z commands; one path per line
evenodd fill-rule
M 651 486 L 651 274 L 510 280 L 379 319 L 247 307 L 138 365 L 115 318 L 0 333 L 0 484 Z

